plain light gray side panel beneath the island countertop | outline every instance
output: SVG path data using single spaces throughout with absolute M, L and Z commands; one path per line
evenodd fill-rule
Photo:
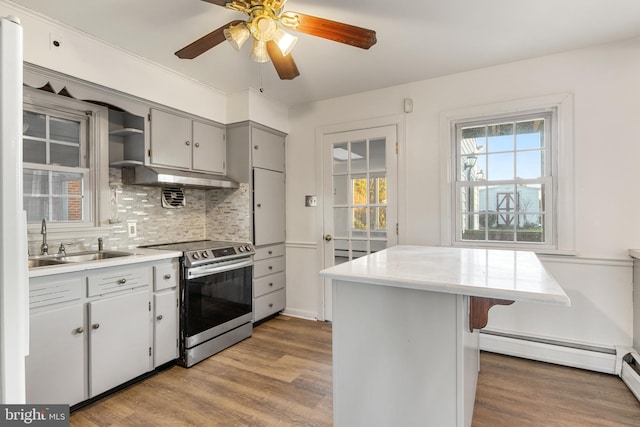
M 464 298 L 334 280 L 334 426 L 470 425 L 477 333 Z

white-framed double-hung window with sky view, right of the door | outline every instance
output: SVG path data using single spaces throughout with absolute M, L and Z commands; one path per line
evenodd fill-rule
M 554 244 L 555 109 L 455 123 L 455 241 Z

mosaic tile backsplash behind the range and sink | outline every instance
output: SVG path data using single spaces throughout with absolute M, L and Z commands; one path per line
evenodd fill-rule
M 251 240 L 251 194 L 248 184 L 237 189 L 186 188 L 185 206 L 162 207 L 160 187 L 125 185 L 121 169 L 109 169 L 111 199 L 110 230 L 104 234 L 105 249 L 134 248 L 156 243 L 189 240 Z M 135 230 L 135 236 L 130 230 Z M 32 239 L 36 236 L 30 236 Z M 37 236 L 39 237 L 39 235 Z M 49 252 L 57 251 L 56 240 Z M 64 239 L 73 242 L 69 252 L 97 248 L 96 238 Z M 31 254 L 39 253 L 39 240 L 31 240 Z

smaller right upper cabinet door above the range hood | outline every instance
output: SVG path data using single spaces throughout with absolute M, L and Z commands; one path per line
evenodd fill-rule
M 193 122 L 193 169 L 224 174 L 227 151 L 224 130 L 201 122 Z

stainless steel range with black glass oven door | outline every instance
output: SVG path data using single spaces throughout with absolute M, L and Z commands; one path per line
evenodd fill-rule
M 193 366 L 251 336 L 251 243 L 199 240 L 146 246 L 182 251 L 180 358 Z

